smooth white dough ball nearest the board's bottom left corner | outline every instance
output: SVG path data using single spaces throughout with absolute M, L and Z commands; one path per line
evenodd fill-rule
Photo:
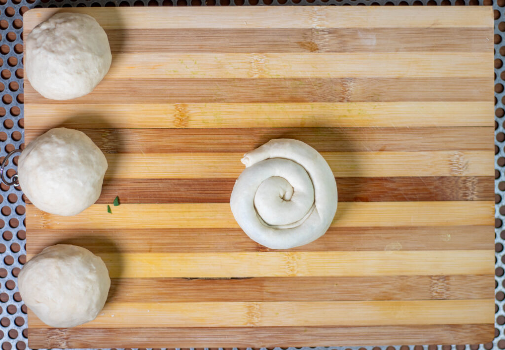
M 51 327 L 75 327 L 103 309 L 111 279 L 104 261 L 69 244 L 47 247 L 25 264 L 18 277 L 23 301 Z

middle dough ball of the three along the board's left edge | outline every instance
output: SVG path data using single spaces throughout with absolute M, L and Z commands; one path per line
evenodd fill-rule
M 40 210 L 76 215 L 102 192 L 107 159 L 79 130 L 59 127 L 33 140 L 18 161 L 19 184 Z

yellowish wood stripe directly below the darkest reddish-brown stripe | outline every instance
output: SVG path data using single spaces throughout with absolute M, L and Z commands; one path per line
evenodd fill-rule
M 332 227 L 490 225 L 492 201 L 461 202 L 341 202 Z M 112 214 L 107 205 L 93 204 L 75 216 L 59 216 L 33 205 L 28 225 L 41 229 L 114 228 L 238 228 L 228 203 L 122 204 Z

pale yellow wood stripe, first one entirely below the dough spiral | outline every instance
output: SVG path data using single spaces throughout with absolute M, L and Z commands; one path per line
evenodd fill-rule
M 97 255 L 111 278 L 377 277 L 486 275 L 494 271 L 492 250 Z

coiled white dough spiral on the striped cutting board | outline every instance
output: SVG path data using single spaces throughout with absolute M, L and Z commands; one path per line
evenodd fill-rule
M 337 210 L 337 185 L 321 154 L 304 142 L 276 139 L 241 161 L 230 207 L 247 236 L 288 249 L 325 234 Z

